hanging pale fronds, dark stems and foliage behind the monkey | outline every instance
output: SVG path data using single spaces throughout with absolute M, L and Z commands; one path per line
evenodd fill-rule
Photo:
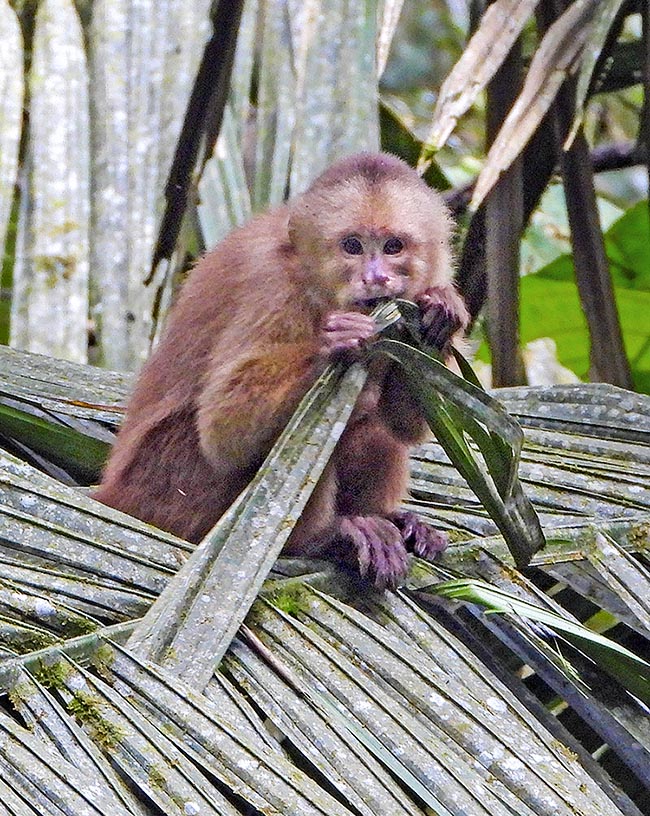
M 203 246 L 329 160 L 381 144 L 446 190 L 486 382 L 492 362 L 497 385 L 579 378 L 650 391 L 641 2 L 337 4 L 330 23 L 314 2 L 225 5 L 0 3 L 1 342 L 137 368 Z M 345 13 L 355 53 L 367 40 L 365 66 L 341 53 Z M 477 30 L 483 43 L 470 43 Z M 335 71 L 325 61 L 314 76 L 314 41 L 336 50 Z M 211 70 L 195 80 L 206 44 Z M 343 93 L 331 87 L 341 65 Z M 472 185 L 524 80 L 529 121 L 504 134 L 496 172 L 510 169 L 472 213 Z M 345 125 L 332 126 L 337 106 Z M 321 125 L 328 135 L 315 140 Z M 166 183 L 180 193 L 165 199 Z

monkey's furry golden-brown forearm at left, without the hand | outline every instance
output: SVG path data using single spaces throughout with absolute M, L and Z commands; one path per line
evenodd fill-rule
M 256 465 L 323 366 L 313 341 L 255 345 L 210 370 L 197 425 L 208 461 Z

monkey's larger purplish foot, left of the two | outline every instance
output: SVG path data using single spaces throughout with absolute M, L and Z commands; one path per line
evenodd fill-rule
M 340 535 L 357 551 L 359 572 L 378 589 L 396 587 L 408 572 L 408 554 L 400 530 L 381 516 L 343 516 Z

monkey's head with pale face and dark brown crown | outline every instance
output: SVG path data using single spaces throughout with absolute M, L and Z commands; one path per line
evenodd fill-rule
M 310 286 L 337 308 L 413 300 L 452 277 L 441 197 L 400 159 L 361 153 L 334 164 L 290 206 L 289 238 Z

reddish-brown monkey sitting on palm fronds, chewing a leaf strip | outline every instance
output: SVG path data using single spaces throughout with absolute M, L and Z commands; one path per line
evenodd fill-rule
M 453 284 L 439 193 L 361 153 L 236 228 L 189 273 L 137 380 L 94 498 L 200 541 L 250 482 L 325 366 L 359 355 L 382 300 L 418 304 L 449 358 L 469 316 Z M 397 364 L 377 359 L 287 555 L 330 557 L 378 587 L 445 536 L 400 512 L 427 425 Z

